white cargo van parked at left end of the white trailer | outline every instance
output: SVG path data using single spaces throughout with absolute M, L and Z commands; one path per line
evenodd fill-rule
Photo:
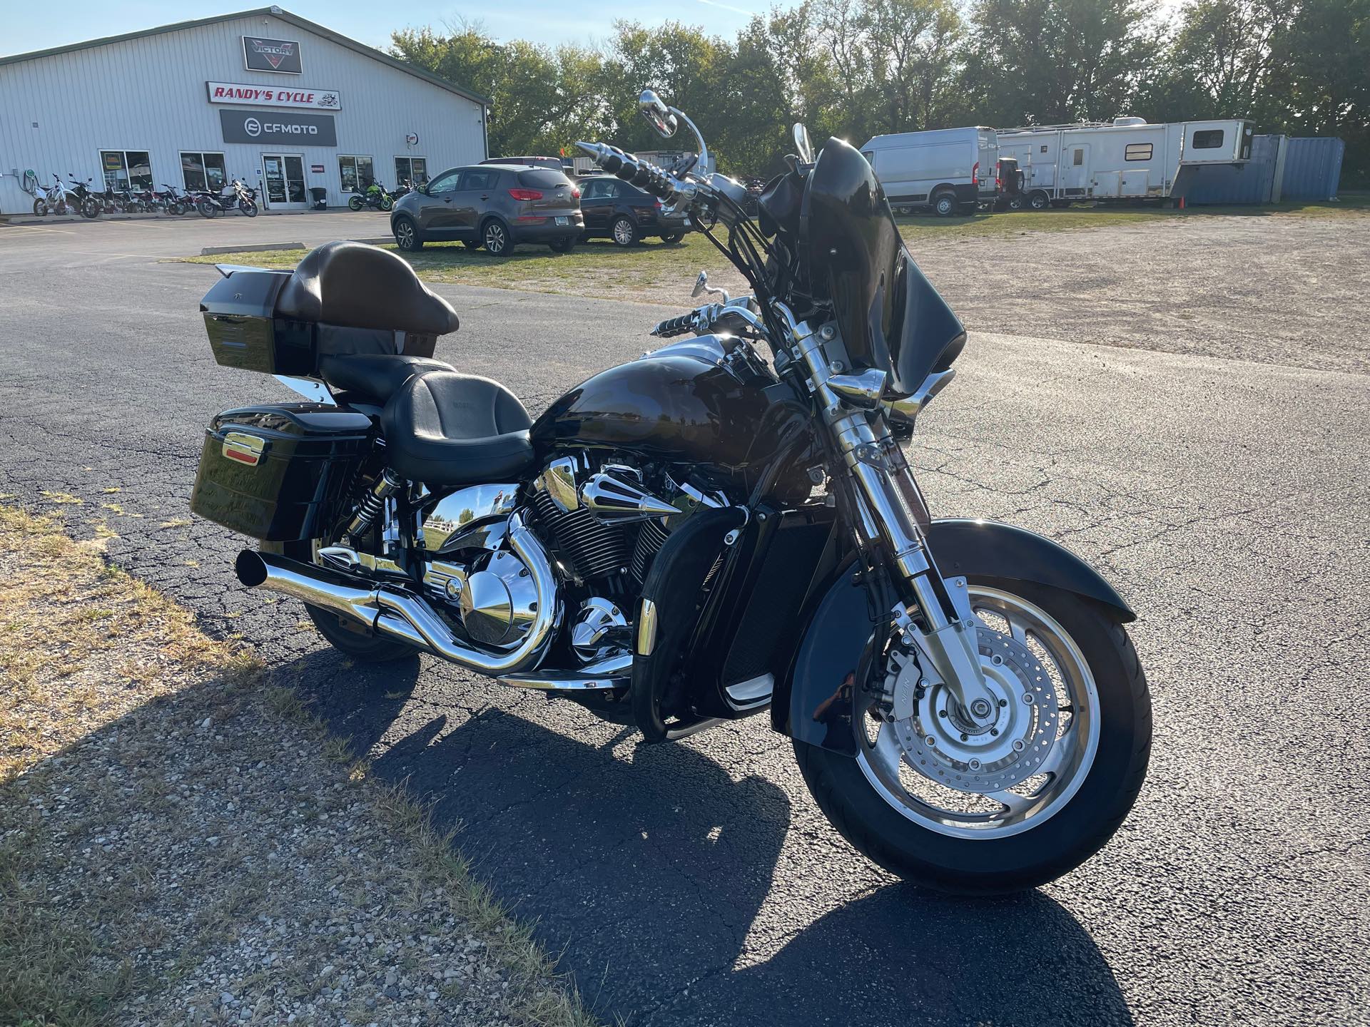
M 993 129 L 877 136 L 860 152 L 875 168 L 891 207 L 930 207 L 947 216 L 996 199 L 999 140 Z

